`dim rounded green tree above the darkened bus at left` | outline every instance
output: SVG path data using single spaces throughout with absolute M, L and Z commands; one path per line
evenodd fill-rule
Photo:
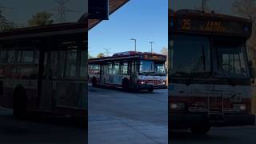
M 29 26 L 46 26 L 54 23 L 54 20 L 51 18 L 53 14 L 50 14 L 46 11 L 38 12 L 34 14 L 33 17 L 28 21 Z

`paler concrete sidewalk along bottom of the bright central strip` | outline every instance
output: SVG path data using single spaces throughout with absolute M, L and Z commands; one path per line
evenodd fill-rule
M 109 115 L 90 115 L 89 143 L 166 144 L 168 127 Z

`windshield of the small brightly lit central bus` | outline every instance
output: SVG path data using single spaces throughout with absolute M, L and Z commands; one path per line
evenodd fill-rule
M 141 61 L 140 74 L 166 74 L 165 62 Z

